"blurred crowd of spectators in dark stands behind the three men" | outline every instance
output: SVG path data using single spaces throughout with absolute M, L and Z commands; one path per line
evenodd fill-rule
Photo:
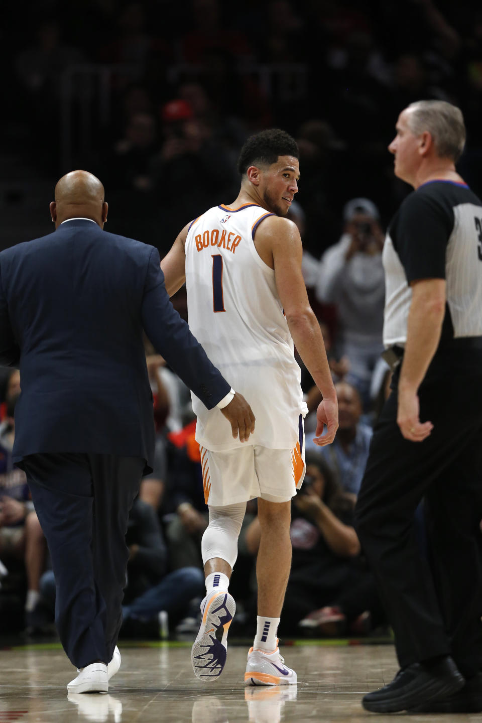
M 236 197 L 236 158 L 251 132 L 282 127 L 296 137 L 301 181 L 290 217 L 304 241 L 304 278 L 337 384 L 340 428 L 333 445 L 312 444 L 320 396 L 299 360 L 309 407 L 307 475 L 293 500 L 280 633 L 361 634 L 383 625 L 353 507 L 371 429 L 390 393 L 380 360 L 382 245 L 408 187 L 393 176 L 387 145 L 408 103 L 456 103 L 468 128 L 460 172 L 482 193 L 475 171 L 482 10 L 468 0 L 456 7 L 449 0 L 245 0 L 230 12 L 221 0 L 40 0 L 35 7 L 19 0 L 4 14 L 4 95 L 12 99 L 1 119 L 4 138 L 14 127 L 19 157 L 56 177 L 71 170 L 61 167 L 66 73 L 116 69 L 93 95 L 98 108 L 105 94 L 108 110 L 103 119 L 89 117 L 87 146 L 75 144 L 87 93 L 84 76 L 76 76 L 72 167 L 103 181 L 108 229 L 157 246 L 161 256 L 192 218 Z M 185 315 L 183 292 L 173 301 Z M 189 391 L 147 341 L 146 359 L 156 460 L 129 522 L 121 634 L 181 635 L 197 630 L 207 507 Z M 25 476 L 12 467 L 20 387 L 18 372 L 0 369 L 0 630 L 34 633 L 51 625 L 55 581 Z M 230 587 L 240 628 L 256 619 L 258 544 L 251 501 Z

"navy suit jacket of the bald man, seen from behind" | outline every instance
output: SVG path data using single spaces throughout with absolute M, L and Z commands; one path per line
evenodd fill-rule
M 176 311 L 157 249 L 87 219 L 0 253 L 0 364 L 20 368 L 14 461 L 33 453 L 137 456 L 154 422 L 142 330 L 212 408 L 230 390 Z

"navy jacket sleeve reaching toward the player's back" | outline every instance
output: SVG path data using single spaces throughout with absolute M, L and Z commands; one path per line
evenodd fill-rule
M 142 325 L 152 345 L 208 409 L 231 389 L 186 322 L 175 311 L 165 290 L 157 249 L 152 249 L 142 299 Z

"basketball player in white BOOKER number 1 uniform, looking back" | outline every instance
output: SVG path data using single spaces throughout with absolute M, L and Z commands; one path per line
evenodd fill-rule
M 168 293 L 186 281 L 189 325 L 213 363 L 246 395 L 257 419 L 249 443 L 225 434 L 218 412 L 193 396 L 210 523 L 202 538 L 206 597 L 191 660 L 201 680 L 223 671 L 235 612 L 228 593 L 246 501 L 258 498 L 258 619 L 245 681 L 296 683 L 283 664 L 277 626 L 291 567 L 291 498 L 304 478 L 306 414 L 293 341 L 323 395 L 316 441 L 332 442 L 338 424 L 322 333 L 301 275 L 301 239 L 284 218 L 298 192 L 298 147 L 272 129 L 241 150 L 241 190 L 181 231 L 163 259 Z M 322 436 L 324 424 L 327 433 Z

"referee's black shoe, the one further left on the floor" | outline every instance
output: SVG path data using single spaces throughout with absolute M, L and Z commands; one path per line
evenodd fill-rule
M 452 696 L 464 684 L 465 680 L 452 658 L 449 655 L 438 656 L 402 668 L 392 683 L 367 693 L 361 703 L 372 713 L 397 713 Z

